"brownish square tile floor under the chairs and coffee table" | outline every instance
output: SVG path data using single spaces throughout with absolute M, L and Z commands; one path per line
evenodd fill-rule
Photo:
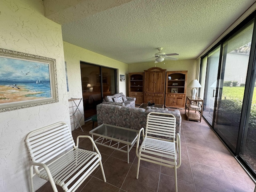
M 177 169 L 179 192 L 253 192 L 254 182 L 236 162 L 216 134 L 202 122 L 187 121 L 182 113 L 181 153 L 182 164 Z M 94 124 L 96 127 L 97 124 Z M 89 134 L 92 122 L 72 132 L 74 138 Z M 92 149 L 88 141 L 81 140 L 80 146 Z M 95 170 L 77 192 L 173 192 L 174 172 L 171 168 L 141 161 L 140 174 L 136 177 L 136 148 L 130 152 L 130 163 L 126 154 L 98 146 L 107 182 L 102 180 L 100 170 Z M 62 188 L 58 188 L 63 191 Z M 50 192 L 47 182 L 37 192 Z

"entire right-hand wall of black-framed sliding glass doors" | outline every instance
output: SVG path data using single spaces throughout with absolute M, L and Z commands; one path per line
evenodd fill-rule
M 204 119 L 256 176 L 254 19 L 239 28 L 201 58 L 199 94 L 204 98 Z

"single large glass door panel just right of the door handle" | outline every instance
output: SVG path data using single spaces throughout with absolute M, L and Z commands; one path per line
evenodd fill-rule
M 214 129 L 236 152 L 253 22 L 223 43 Z

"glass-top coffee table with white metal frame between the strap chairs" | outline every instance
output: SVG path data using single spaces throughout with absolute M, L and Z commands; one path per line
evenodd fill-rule
M 129 163 L 129 152 L 137 141 L 138 132 L 129 128 L 101 124 L 89 133 L 96 144 L 127 153 L 127 163 Z

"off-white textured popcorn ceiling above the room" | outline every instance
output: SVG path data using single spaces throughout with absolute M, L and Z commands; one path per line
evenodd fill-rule
M 255 0 L 68 2 L 44 0 L 46 16 L 62 24 L 63 40 L 130 64 L 154 62 L 146 59 L 158 47 L 180 60 L 197 58 Z

